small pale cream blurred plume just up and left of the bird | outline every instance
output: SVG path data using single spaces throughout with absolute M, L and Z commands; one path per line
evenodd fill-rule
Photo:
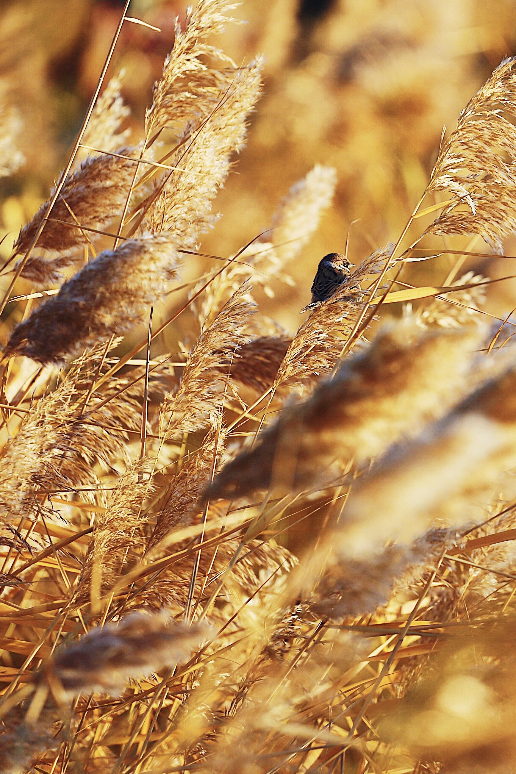
M 316 164 L 282 199 L 272 217 L 272 234 L 268 236 L 282 262 L 298 255 L 317 230 L 322 214 L 330 207 L 336 185 L 335 170 Z

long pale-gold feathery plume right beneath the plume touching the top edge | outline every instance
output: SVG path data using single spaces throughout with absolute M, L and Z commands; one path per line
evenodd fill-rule
M 171 231 L 180 247 L 193 248 L 214 223 L 211 202 L 227 178 L 231 155 L 244 146 L 247 118 L 260 94 L 260 70 L 259 61 L 236 70 L 210 115 L 186 125 L 168 161 L 178 169 L 155 183 L 139 233 Z

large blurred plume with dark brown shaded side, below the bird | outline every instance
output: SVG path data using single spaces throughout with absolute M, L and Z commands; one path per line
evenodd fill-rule
M 358 464 L 381 454 L 463 394 L 468 350 L 479 340 L 477 328 L 422 333 L 408 320 L 385 326 L 311 398 L 286 406 L 252 450 L 220 471 L 211 495 L 248 494 L 273 480 L 306 487 L 331 478 L 333 461 Z

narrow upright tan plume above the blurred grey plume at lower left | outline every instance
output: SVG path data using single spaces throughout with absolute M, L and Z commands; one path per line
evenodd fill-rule
M 91 599 L 94 608 L 120 576 L 126 562 L 142 547 L 145 498 L 152 492 L 141 466 L 133 464 L 118 478 L 104 512 L 97 515 L 91 543 L 77 583 L 75 598 Z

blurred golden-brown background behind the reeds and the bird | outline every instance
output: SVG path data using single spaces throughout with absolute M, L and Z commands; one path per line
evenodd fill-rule
M 0 91 L 19 113 L 26 164 L 0 180 L 0 252 L 9 255 L 20 226 L 48 197 L 97 84 L 123 2 L 3 0 Z M 125 25 L 108 77 L 125 70 L 131 141 L 142 134 L 145 106 L 173 46 L 183 0 L 133 0 L 129 13 L 161 32 Z M 244 0 L 246 23 L 220 43 L 237 62 L 264 53 L 265 87 L 247 148 L 216 208 L 223 214 L 203 248 L 230 255 L 268 227 L 292 183 L 314 165 L 337 170 L 333 209 L 299 260 L 295 286 L 263 299 L 290 333 L 309 300 L 317 262 L 342 251 L 350 223 L 350 259 L 397 238 L 425 187 L 443 125 L 453 128 L 471 95 L 516 53 L 514 0 Z M 477 249 L 484 250 L 481 245 Z M 485 250 L 487 251 L 487 249 Z M 507 245 L 506 252 L 516 252 Z M 415 264 L 404 279 L 440 283 L 452 257 Z M 470 259 L 490 276 L 512 262 Z M 188 276 L 200 272 L 192 259 Z M 516 280 L 497 283 L 487 307 L 516 306 Z M 273 305 L 273 306 L 272 306 Z

